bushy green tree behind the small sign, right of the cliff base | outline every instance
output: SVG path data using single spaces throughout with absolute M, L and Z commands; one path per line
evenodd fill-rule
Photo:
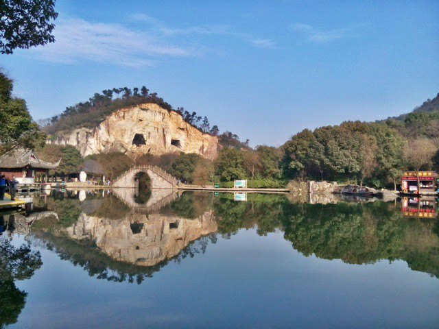
M 246 178 L 241 151 L 224 147 L 215 160 L 215 173 L 223 182 Z

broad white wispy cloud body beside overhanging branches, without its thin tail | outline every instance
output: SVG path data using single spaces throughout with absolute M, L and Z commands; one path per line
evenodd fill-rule
M 119 24 L 64 19 L 54 30 L 55 43 L 34 49 L 49 62 L 73 64 L 82 60 L 123 66 L 152 65 L 156 56 L 195 56 L 196 51 L 165 45 L 158 38 Z

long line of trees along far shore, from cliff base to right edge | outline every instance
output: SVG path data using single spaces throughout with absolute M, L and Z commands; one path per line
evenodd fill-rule
M 154 164 L 176 178 L 193 184 L 218 183 L 231 187 L 233 180 L 248 179 L 251 187 L 285 187 L 289 180 L 333 180 L 366 186 L 394 187 L 405 170 L 435 169 L 439 165 L 435 129 L 439 112 L 414 112 L 404 121 L 394 119 L 303 130 L 282 147 L 259 145 L 255 149 L 231 132 L 219 135 L 222 149 L 214 161 L 198 154 L 126 154 L 88 156 L 114 179 L 134 164 Z M 46 145 L 43 158 L 62 158 L 56 175 L 80 171 L 83 159 L 71 146 Z

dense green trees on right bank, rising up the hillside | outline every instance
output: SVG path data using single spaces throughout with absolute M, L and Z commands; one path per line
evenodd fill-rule
M 437 169 L 438 101 L 439 97 L 429 99 L 401 118 L 303 130 L 283 145 L 283 173 L 286 178 L 381 187 L 395 182 L 407 169 Z

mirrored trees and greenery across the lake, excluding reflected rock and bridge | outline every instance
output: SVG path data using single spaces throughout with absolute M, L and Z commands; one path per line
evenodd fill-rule
M 69 199 L 64 199 L 64 201 Z M 54 201 L 52 201 L 54 202 Z M 60 204 L 60 211 L 72 214 L 69 204 Z M 62 209 L 65 208 L 65 209 Z M 241 228 L 257 227 L 260 235 L 285 232 L 285 239 L 305 256 L 315 254 L 325 259 L 341 259 L 346 263 L 374 263 L 380 259 L 405 260 L 411 269 L 425 271 L 439 277 L 439 224 L 431 219 L 407 219 L 394 204 L 373 202 L 367 204 L 306 204 L 288 202 L 285 195 L 248 194 L 248 202 L 234 202 L 233 195 L 222 193 L 185 192 L 176 201 L 159 210 L 161 215 L 195 219 L 213 208 L 218 232 L 230 237 Z M 71 209 L 75 209 L 72 206 Z M 107 196 L 92 215 L 119 219 L 130 212 L 125 204 Z M 64 217 L 70 218 L 68 215 Z M 75 221 L 78 220 L 75 217 Z M 61 225 L 65 228 L 65 219 Z M 49 223 L 49 222 L 47 222 Z M 43 228 L 35 223 L 34 228 Z M 40 227 L 41 226 L 41 227 Z M 51 232 L 43 228 L 46 232 Z M 165 266 L 169 260 L 153 267 L 121 263 L 99 251 L 91 241 L 71 241 L 67 236 L 39 232 L 48 247 L 56 249 L 62 259 L 83 267 L 91 276 L 112 281 L 141 282 Z M 181 261 L 187 256 L 204 253 L 209 241 L 201 238 L 191 243 L 174 258 Z

